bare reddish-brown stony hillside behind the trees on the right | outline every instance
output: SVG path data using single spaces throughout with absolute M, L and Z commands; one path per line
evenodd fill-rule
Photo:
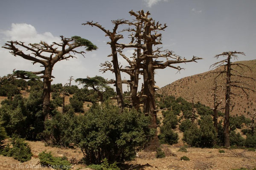
M 238 61 L 237 63 L 242 63 L 244 65 L 248 65 L 252 71 L 248 68 L 241 69 L 237 66 L 234 67 L 237 71 L 247 77 L 253 77 L 256 79 L 256 59 L 249 60 L 249 61 Z M 157 93 L 165 95 L 173 95 L 175 97 L 183 97 L 189 102 L 192 102 L 192 98 L 194 96 L 195 102 L 201 102 L 204 105 L 208 105 L 213 107 L 213 91 L 211 88 L 214 86 L 214 77 L 217 75 L 212 73 L 216 70 L 220 70 L 221 68 L 216 68 L 215 70 L 208 71 L 202 74 L 196 74 L 194 76 L 185 77 L 179 79 L 169 85 L 164 86 Z M 219 77 L 218 81 L 221 82 L 223 77 Z M 241 80 L 241 78 L 236 78 L 233 80 Z M 250 85 L 250 88 L 256 91 L 256 82 L 253 80 L 246 80 L 247 83 Z M 222 81 L 223 82 L 223 81 Z M 233 93 L 242 95 L 243 92 L 240 89 L 232 89 Z M 219 92 L 218 96 L 219 99 L 225 100 L 225 90 Z M 231 111 L 232 115 L 247 115 L 249 112 L 255 111 L 256 109 L 256 94 L 249 91 L 249 99 L 247 100 L 246 97 L 241 96 L 234 96 L 233 95 L 233 110 Z

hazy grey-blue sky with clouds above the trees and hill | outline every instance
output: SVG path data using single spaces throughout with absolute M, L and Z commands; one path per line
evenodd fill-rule
M 96 44 L 97 51 L 87 52 L 85 58 L 56 63 L 53 83 L 66 83 L 69 76 L 85 78 L 102 76 L 114 78 L 111 73 L 99 72 L 99 65 L 111 58 L 109 41 L 103 31 L 95 27 L 82 26 L 86 21 L 99 22 L 112 30 L 111 20 L 131 20 L 130 10 L 150 11 L 151 17 L 166 23 L 162 31 L 163 48 L 191 58 L 202 57 L 198 63 L 187 63 L 186 68 L 157 70 L 156 85 L 163 87 L 182 77 L 208 71 L 213 58 L 223 51 L 243 51 L 246 57 L 255 59 L 256 47 L 256 0 L 1 0 L 0 3 L 0 46 L 8 40 L 48 43 L 58 41 L 59 36 L 74 35 L 86 38 Z M 129 42 L 128 39 L 122 40 Z M 131 54 L 132 51 L 126 51 Z M 40 71 L 39 65 L 14 57 L 0 48 L 0 76 L 12 70 Z M 123 59 L 120 60 L 125 65 Z M 122 74 L 128 79 L 127 74 Z M 125 88 L 126 89 L 126 88 Z

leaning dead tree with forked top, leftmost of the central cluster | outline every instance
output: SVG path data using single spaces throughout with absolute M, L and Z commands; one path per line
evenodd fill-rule
M 115 74 L 115 86 L 116 86 L 116 99 L 117 99 L 117 105 L 120 108 L 121 112 L 124 109 L 124 101 L 123 101 L 123 96 L 122 96 L 122 78 L 121 78 L 121 73 L 120 73 L 120 68 L 119 68 L 119 62 L 118 62 L 118 57 L 117 57 L 117 50 L 116 50 L 116 44 L 117 41 L 123 38 L 122 34 L 117 34 L 117 28 L 118 26 L 127 23 L 126 20 L 112 20 L 112 23 L 114 24 L 113 31 L 109 31 L 99 25 L 98 23 L 93 23 L 93 22 L 87 22 L 82 25 L 90 25 L 90 26 L 96 26 L 99 29 L 101 29 L 103 32 L 105 32 L 105 36 L 108 36 L 111 40 L 111 42 L 108 42 L 111 46 L 111 55 L 112 56 L 112 64 L 113 64 L 113 72 Z M 104 66 L 104 64 L 102 64 Z

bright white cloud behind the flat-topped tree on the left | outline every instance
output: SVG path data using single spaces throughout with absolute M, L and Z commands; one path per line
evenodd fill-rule
M 1 46 L 6 41 L 17 40 L 28 43 L 38 43 L 40 41 L 52 44 L 52 42 L 61 42 L 60 37 L 53 36 L 50 32 L 38 33 L 34 26 L 26 23 L 13 23 L 9 30 L 0 31 Z M 23 48 L 19 48 L 23 50 Z M 79 50 L 78 50 L 79 51 Z M 24 51 L 29 53 L 29 51 Z M 85 54 L 87 56 L 87 54 Z M 93 54 L 93 57 L 96 54 Z M 0 77 L 11 74 L 13 69 L 26 71 L 41 71 L 42 67 L 36 63 L 21 58 L 20 56 L 13 56 L 9 50 L 0 48 Z M 89 57 L 87 57 L 89 60 Z M 67 82 L 69 76 L 73 75 L 79 78 L 78 73 L 86 73 L 88 69 L 84 67 L 83 57 L 77 56 L 77 59 L 70 59 L 69 61 L 60 61 L 56 63 L 52 71 L 52 75 L 56 77 L 53 83 Z

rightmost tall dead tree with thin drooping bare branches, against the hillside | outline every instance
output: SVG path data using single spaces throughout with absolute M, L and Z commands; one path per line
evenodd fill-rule
M 230 118 L 231 95 L 243 96 L 243 97 L 248 98 L 247 91 L 255 92 L 253 89 L 250 88 L 250 85 L 247 82 L 231 79 L 234 77 L 240 77 L 243 79 L 252 79 L 255 81 L 255 79 L 253 79 L 251 77 L 244 76 L 238 70 L 233 68 L 233 66 L 236 65 L 238 68 L 243 69 L 244 67 L 246 67 L 246 68 L 249 68 L 251 71 L 251 68 L 248 67 L 247 65 L 244 65 L 241 63 L 233 63 L 231 61 L 232 58 L 237 59 L 238 54 L 245 56 L 245 54 L 243 52 L 237 52 L 237 51 L 228 51 L 228 52 L 223 52 L 222 54 L 218 54 L 215 56 L 216 59 L 218 59 L 219 57 L 225 57 L 225 59 L 223 59 L 219 62 L 216 62 L 210 66 L 210 68 L 217 68 L 217 67 L 222 66 L 223 68 L 221 69 L 221 71 L 214 71 L 213 73 L 218 74 L 216 77 L 219 77 L 220 75 L 222 75 L 226 79 L 226 82 L 225 82 L 225 89 L 226 89 L 226 92 L 225 92 L 225 119 L 224 119 L 224 146 L 225 147 L 230 147 L 229 118 Z M 231 91 L 232 88 L 240 88 L 244 92 L 245 96 L 240 95 L 240 94 L 234 94 Z

